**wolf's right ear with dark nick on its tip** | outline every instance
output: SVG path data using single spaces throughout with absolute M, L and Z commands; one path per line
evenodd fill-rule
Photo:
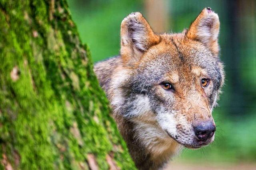
M 186 37 L 201 41 L 208 47 L 214 55 L 218 55 L 218 34 L 220 21 L 218 14 L 214 13 L 211 8 L 204 8 L 199 16 L 190 25 L 186 32 Z

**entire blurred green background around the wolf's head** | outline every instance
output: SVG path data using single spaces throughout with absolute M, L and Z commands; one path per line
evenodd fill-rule
M 226 82 L 213 115 L 216 140 L 184 150 L 175 161 L 256 162 L 256 1 L 255 0 L 68 0 L 80 37 L 94 62 L 118 55 L 120 24 L 139 11 L 156 32 L 181 32 L 210 6 L 220 18 L 220 58 Z

